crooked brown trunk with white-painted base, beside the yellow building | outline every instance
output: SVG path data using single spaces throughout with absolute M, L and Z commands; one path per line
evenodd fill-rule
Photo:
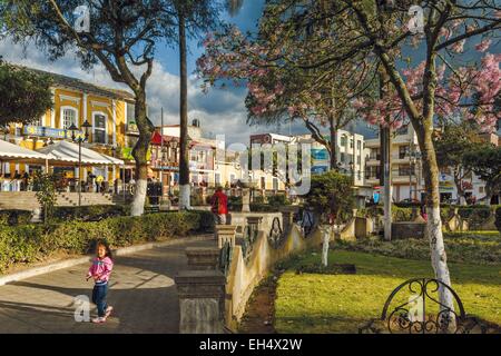
M 147 154 L 153 135 L 153 126 L 146 116 L 146 92 L 144 88 L 136 92 L 135 119 L 139 128 L 139 139 L 132 149 L 132 156 L 136 160 L 136 194 L 130 214 L 132 216 L 140 216 L 145 211 L 148 179 Z

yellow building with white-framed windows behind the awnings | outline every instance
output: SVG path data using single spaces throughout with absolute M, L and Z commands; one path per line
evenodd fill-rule
M 91 125 L 87 148 L 128 161 L 127 174 L 112 167 L 86 167 L 82 179 L 92 172 L 112 184 L 115 178 L 125 175 L 130 179 L 132 160 L 131 147 L 137 140 L 137 127 L 134 122 L 134 96 L 124 90 L 98 87 L 76 78 L 42 72 L 52 78 L 53 108 L 30 125 L 12 123 L 1 138 L 28 149 L 41 148 L 50 141 L 71 140 L 68 128 L 75 123 L 78 128 L 87 120 Z M 1 167 L 3 177 L 14 178 L 30 172 L 37 167 L 10 162 Z M 58 167 L 66 177 L 78 175 L 75 167 Z

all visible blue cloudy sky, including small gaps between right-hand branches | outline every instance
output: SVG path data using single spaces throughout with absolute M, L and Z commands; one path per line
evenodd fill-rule
M 244 0 L 239 13 L 232 18 L 226 12 L 222 13 L 222 19 L 235 23 L 242 31 L 253 31 L 262 14 L 265 0 Z M 478 41 L 478 40 L 477 40 Z M 470 41 L 469 48 L 477 41 Z M 471 43 L 473 42 L 473 43 Z M 199 119 L 202 128 L 209 135 L 225 135 L 227 142 L 248 144 L 249 135 L 261 132 L 278 132 L 288 135 L 304 134 L 307 130 L 302 123 L 295 123 L 291 128 L 288 125 L 282 127 L 248 127 L 246 125 L 247 112 L 244 106 L 246 96 L 245 88 L 216 89 L 212 88 L 207 95 L 202 92 L 200 81 L 194 76 L 196 60 L 204 49 L 199 46 L 199 39 L 188 41 L 188 119 Z M 500 52 L 500 43 L 495 43 L 490 49 L 491 52 Z M 409 49 L 406 51 L 413 60 L 419 60 L 422 49 Z M 478 60 L 480 53 L 472 51 L 469 59 Z M 80 69 L 79 62 L 72 53 L 50 62 L 47 56 L 41 53 L 33 44 L 23 49 L 19 44 L 11 43 L 9 39 L 0 41 L 0 56 L 6 60 L 23 66 L 52 71 L 70 77 L 76 77 L 96 85 L 127 89 L 114 82 L 102 66 L 96 66 L 90 71 Z M 461 56 L 462 58 L 466 56 Z M 160 108 L 164 108 L 165 123 L 179 122 L 179 51 L 177 48 L 159 46 L 156 52 L 154 73 L 147 85 L 148 107 L 150 119 L 160 123 Z M 366 123 L 358 123 L 357 132 L 374 136 L 374 130 L 367 128 Z

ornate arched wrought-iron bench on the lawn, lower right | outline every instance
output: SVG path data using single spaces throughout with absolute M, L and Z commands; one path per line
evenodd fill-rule
M 440 303 L 439 290 L 448 290 L 451 309 Z M 433 278 L 413 278 L 397 286 L 387 297 L 380 318 L 358 328 L 358 334 L 485 334 L 487 325 L 466 315 L 458 294 Z

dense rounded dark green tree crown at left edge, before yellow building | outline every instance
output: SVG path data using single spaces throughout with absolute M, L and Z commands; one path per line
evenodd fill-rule
M 51 80 L 0 58 L 0 125 L 30 123 L 52 107 Z

